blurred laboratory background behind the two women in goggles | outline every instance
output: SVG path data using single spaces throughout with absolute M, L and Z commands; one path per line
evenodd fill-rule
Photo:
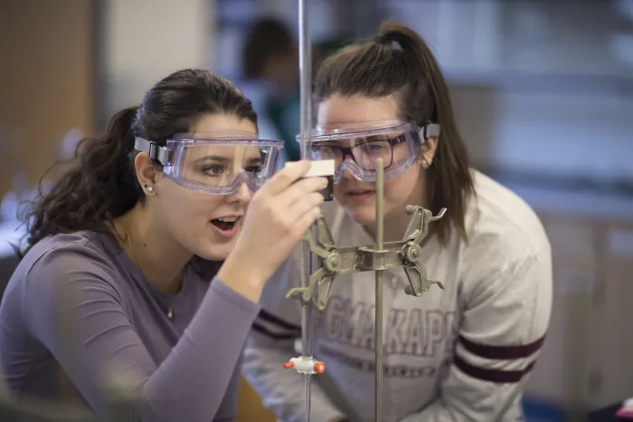
M 308 4 L 315 63 L 385 18 L 425 37 L 474 166 L 543 219 L 555 296 L 528 421 L 633 397 L 633 0 Z M 262 136 L 285 139 L 296 159 L 297 48 L 296 0 L 1 0 L 0 293 L 24 233 L 19 203 L 169 72 L 236 81 Z M 245 383 L 240 420 L 275 420 Z

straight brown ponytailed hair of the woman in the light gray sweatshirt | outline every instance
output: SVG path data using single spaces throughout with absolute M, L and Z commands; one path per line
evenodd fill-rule
M 464 216 L 475 187 L 468 168 L 468 151 L 459 134 L 449 88 L 429 46 L 411 28 L 388 21 L 371 41 L 357 42 L 331 55 L 316 72 L 315 100 L 333 94 L 382 98 L 393 95 L 402 120 L 423 126 L 439 123 L 441 134 L 427 170 L 430 210 L 442 207 L 447 216 L 434 224 L 445 242 L 455 225 L 466 239 Z

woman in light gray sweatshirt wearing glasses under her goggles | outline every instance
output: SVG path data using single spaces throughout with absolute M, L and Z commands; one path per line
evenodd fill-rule
M 335 244 L 373 245 L 375 158 L 385 164 L 384 241 L 402 239 L 407 205 L 445 216 L 430 226 L 420 260 L 433 286 L 404 293 L 402 269 L 385 274 L 383 417 L 390 422 L 522 420 L 525 382 L 552 306 L 551 248 L 533 210 L 468 165 L 447 83 L 418 34 L 388 22 L 346 46 L 316 73 L 313 158 L 338 166 L 324 216 Z M 244 373 L 281 420 L 303 420 L 296 373 L 300 308 L 288 260 L 262 293 Z M 314 354 L 326 372 L 312 388 L 312 419 L 373 420 L 373 273 L 339 275 L 316 315 Z

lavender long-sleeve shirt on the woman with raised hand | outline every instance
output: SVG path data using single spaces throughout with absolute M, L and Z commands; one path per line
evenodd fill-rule
M 109 235 L 43 239 L 17 267 L 0 305 L 9 386 L 18 396 L 61 398 L 64 374 L 105 416 L 99 385 L 124 376 L 141 394 L 136 421 L 232 420 L 241 350 L 260 308 L 213 278 L 218 267 L 194 258 L 183 289 L 170 295 L 147 283 Z M 70 331 L 60 330 L 62 318 Z

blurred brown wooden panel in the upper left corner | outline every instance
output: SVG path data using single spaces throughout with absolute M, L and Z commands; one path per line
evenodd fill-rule
M 69 131 L 92 130 L 94 3 L 0 1 L 0 197 L 18 170 L 37 183 Z

